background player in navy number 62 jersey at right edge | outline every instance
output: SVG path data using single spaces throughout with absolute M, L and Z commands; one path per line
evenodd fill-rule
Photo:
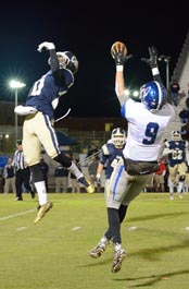
M 172 140 L 165 142 L 163 155 L 168 158 L 169 197 L 174 200 L 174 186 L 177 185 L 179 198 L 182 198 L 187 166 L 189 162 L 188 141 L 181 140 L 179 131 L 172 131 Z M 178 178 L 178 184 L 177 184 Z

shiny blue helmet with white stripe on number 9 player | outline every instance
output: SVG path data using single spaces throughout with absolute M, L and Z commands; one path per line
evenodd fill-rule
M 162 83 L 148 82 L 140 87 L 141 103 L 151 112 L 155 112 L 166 104 L 167 93 Z

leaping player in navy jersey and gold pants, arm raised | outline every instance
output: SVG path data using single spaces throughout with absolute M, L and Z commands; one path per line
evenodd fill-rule
M 50 70 L 34 83 L 25 106 L 17 106 L 14 109 L 15 113 L 26 116 L 23 124 L 23 149 L 39 198 L 35 224 L 52 207 L 52 203 L 48 202 L 47 188 L 39 165 L 41 145 L 53 160 L 76 176 L 87 192 L 94 191 L 77 166 L 61 153 L 53 128 L 54 109 L 58 107 L 60 97 L 66 94 L 74 84 L 78 60 L 71 51 L 56 52 L 53 43 L 41 43 L 38 51 L 41 52 L 43 48 L 50 53 L 48 60 Z

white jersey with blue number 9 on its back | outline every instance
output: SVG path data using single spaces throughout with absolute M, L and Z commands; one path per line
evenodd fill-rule
M 166 104 L 152 113 L 143 104 L 128 99 L 122 107 L 122 116 L 128 121 L 125 158 L 156 160 L 167 125 L 175 119 L 174 107 Z

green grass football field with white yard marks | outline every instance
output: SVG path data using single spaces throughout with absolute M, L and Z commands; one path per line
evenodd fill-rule
M 189 193 L 141 193 L 122 225 L 128 257 L 112 274 L 113 250 L 89 251 L 106 228 L 104 196 L 50 194 L 53 208 L 34 225 L 37 200 L 0 194 L 0 289 L 189 288 Z

